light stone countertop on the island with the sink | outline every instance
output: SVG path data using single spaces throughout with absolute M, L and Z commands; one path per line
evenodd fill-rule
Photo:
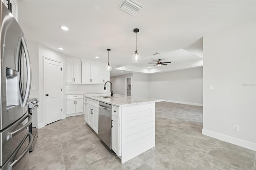
M 110 96 L 102 95 L 102 96 Z M 114 106 L 136 106 L 141 104 L 149 104 L 155 102 L 163 102 L 164 99 L 155 99 L 155 98 L 144 98 L 144 97 L 134 97 L 134 96 L 125 96 L 120 94 L 114 94 L 111 98 L 97 98 L 94 94 L 86 94 L 85 97 L 98 100 L 99 102 L 104 102 Z

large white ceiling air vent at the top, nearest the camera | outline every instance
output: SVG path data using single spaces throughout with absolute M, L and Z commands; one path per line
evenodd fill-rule
M 144 7 L 142 4 L 136 2 L 135 0 L 122 0 L 119 9 L 128 12 L 129 14 L 135 16 Z

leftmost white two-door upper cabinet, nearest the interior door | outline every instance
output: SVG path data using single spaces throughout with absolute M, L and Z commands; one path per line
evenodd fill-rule
M 66 83 L 81 83 L 81 62 L 66 61 Z

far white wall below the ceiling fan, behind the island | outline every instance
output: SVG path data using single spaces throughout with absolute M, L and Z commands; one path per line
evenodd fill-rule
M 202 106 L 203 68 L 150 74 L 149 97 Z

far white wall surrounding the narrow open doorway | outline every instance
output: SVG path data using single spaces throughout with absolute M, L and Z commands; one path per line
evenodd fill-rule
M 132 77 L 131 74 L 124 74 L 121 76 L 114 76 L 110 77 L 110 82 L 113 84 L 113 91 L 114 94 L 122 94 L 125 95 L 126 93 L 126 84 L 125 84 L 125 78 L 126 77 Z M 132 90 L 133 90 L 133 78 L 132 78 Z

